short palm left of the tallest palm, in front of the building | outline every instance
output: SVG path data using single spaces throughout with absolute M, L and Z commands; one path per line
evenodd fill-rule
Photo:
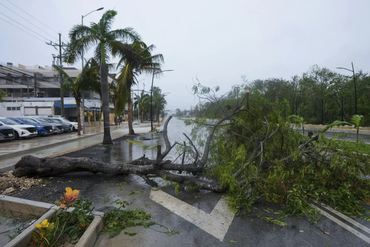
M 93 58 L 88 60 L 86 65 L 83 67 L 83 70 L 77 75 L 75 80 L 68 76 L 61 67 L 53 65 L 53 68 L 57 71 L 57 74 L 61 80 L 61 89 L 64 92 L 72 91 L 73 97 L 76 100 L 78 125 L 77 135 L 81 135 L 81 90 L 93 90 L 101 94 L 99 65 Z

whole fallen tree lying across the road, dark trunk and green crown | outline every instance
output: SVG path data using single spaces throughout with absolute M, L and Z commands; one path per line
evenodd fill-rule
M 281 105 L 266 101 L 258 92 L 249 95 L 246 90 L 239 99 L 233 91 L 216 97 L 218 90 L 195 83 L 193 92 L 202 106 L 195 121 L 186 121 L 193 126 L 191 135 L 184 134 L 187 142 L 171 145 L 169 116 L 163 129 L 165 150 L 161 152 L 158 146 L 155 159 L 141 157 L 112 165 L 89 158 L 25 156 L 13 174 L 131 173 L 157 186 L 149 178 L 155 175 L 192 188 L 226 192 L 229 205 L 237 209 L 262 199 L 282 204 L 284 214 L 311 217 L 309 203 L 318 200 L 364 217 L 361 204 L 370 203 L 370 182 L 364 179 L 370 174 L 368 156 L 344 148 L 336 140 L 339 135 L 327 139 L 314 131 L 300 134 L 282 118 Z M 165 160 L 175 146 L 181 163 Z M 204 180 L 198 174 L 215 180 Z

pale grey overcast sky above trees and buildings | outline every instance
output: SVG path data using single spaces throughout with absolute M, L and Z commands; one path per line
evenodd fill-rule
M 10 1 L 66 40 L 73 24 L 81 23 L 81 15 L 104 7 L 84 18 L 89 24 L 98 22 L 105 10 L 117 10 L 113 28 L 133 27 L 164 55 L 163 69 L 174 70 L 154 80 L 162 92 L 171 92 L 168 109 L 195 106 L 197 101 L 186 87 L 191 89 L 197 73 L 205 85 L 228 90 L 241 83 L 240 75 L 248 80 L 289 79 L 314 64 L 335 70 L 353 62 L 355 70 L 364 71 L 370 65 L 369 0 Z M 1 19 L 41 40 L 57 42 L 56 32 L 9 1 L 0 3 L 51 37 L 0 4 L 0 13 L 47 39 L 3 14 Z M 51 54 L 57 54 L 53 47 L 1 19 L 0 62 L 51 65 Z M 85 55 L 91 56 L 92 52 Z M 148 89 L 151 78 L 139 83 L 140 89 L 142 83 Z

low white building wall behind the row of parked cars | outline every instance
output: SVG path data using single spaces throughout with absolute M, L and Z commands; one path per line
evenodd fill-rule
M 48 107 L 38 108 L 38 115 L 51 115 L 53 101 L 5 101 L 0 102 L 0 117 L 30 116 L 36 115 L 36 106 Z M 26 106 L 26 108 L 24 108 Z M 19 107 L 20 110 L 7 110 L 7 107 Z M 27 108 L 32 107 L 32 108 Z

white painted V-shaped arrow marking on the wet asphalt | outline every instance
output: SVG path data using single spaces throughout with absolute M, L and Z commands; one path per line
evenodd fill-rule
M 207 233 L 223 240 L 234 214 L 228 209 L 228 202 L 221 198 L 210 214 L 183 202 L 161 190 L 151 191 L 150 198 L 163 207 L 196 225 Z

